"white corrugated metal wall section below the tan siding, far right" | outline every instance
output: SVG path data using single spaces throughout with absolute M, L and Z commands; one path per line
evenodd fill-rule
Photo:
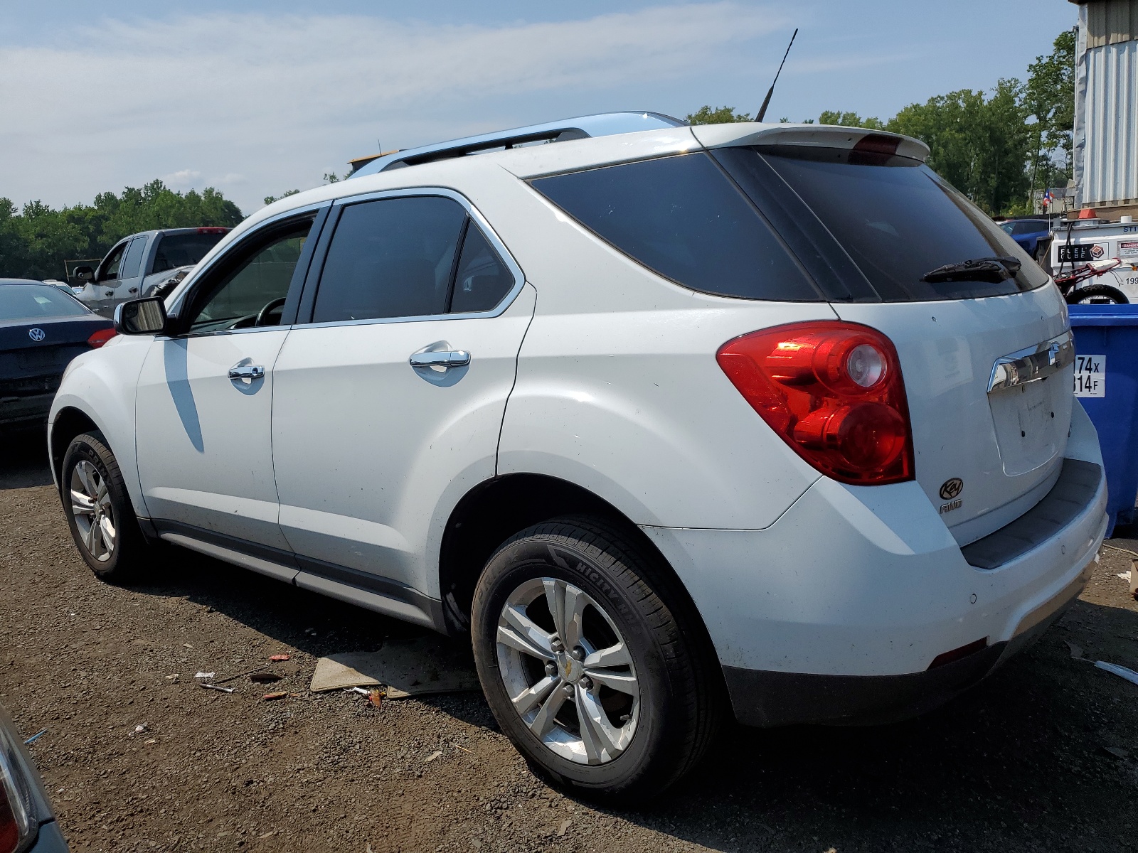
M 1138 41 L 1087 50 L 1086 205 L 1138 199 Z

